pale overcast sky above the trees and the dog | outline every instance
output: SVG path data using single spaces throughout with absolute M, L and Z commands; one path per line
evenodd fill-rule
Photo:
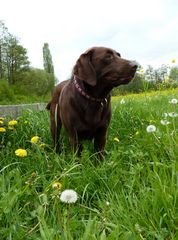
M 178 61 L 178 0 L 0 0 L 0 20 L 43 68 L 49 44 L 58 81 L 88 48 L 110 47 L 146 68 Z

